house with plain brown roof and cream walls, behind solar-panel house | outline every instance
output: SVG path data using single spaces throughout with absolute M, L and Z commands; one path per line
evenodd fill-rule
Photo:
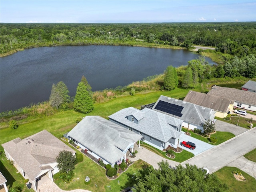
M 234 100 L 232 99 L 221 98 L 192 90 L 188 92 L 183 101 L 213 109 L 216 112 L 215 116 L 220 118 L 226 117 L 234 108 Z

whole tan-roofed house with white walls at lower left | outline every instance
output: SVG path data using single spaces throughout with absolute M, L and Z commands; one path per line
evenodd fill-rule
M 24 139 L 16 138 L 2 144 L 8 160 L 14 163 L 25 179 L 32 182 L 32 188 L 37 191 L 38 181 L 48 177 L 53 182 L 57 168 L 56 157 L 62 150 L 75 151 L 58 138 L 43 130 Z

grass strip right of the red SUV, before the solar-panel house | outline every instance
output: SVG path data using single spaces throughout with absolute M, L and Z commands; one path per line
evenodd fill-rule
M 187 132 L 188 129 L 186 128 L 182 128 L 182 131 Z M 196 134 L 194 132 L 192 132 L 191 130 L 188 131 L 190 133 L 191 137 L 194 137 L 198 140 L 204 141 L 206 143 L 212 144 L 212 145 L 218 145 L 221 144 L 231 138 L 233 138 L 235 135 L 230 133 L 230 132 L 220 132 L 220 131 L 216 131 L 216 133 L 211 134 L 211 137 L 217 138 L 217 142 L 216 143 L 211 143 L 208 138 L 205 138 L 203 136 L 201 136 L 200 134 Z

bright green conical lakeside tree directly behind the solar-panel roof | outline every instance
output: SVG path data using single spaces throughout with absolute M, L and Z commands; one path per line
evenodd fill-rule
M 166 90 L 175 89 L 178 86 L 178 75 L 173 66 L 168 66 L 164 72 L 164 88 Z

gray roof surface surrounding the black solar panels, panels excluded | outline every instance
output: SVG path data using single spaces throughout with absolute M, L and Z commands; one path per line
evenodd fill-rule
M 169 113 L 155 109 L 155 107 L 159 101 L 164 101 L 167 103 L 171 103 L 171 104 L 175 104 L 175 105 L 183 107 L 183 109 L 181 111 L 182 116 L 179 117 L 179 116 L 169 114 Z M 212 110 L 210 108 L 202 107 L 202 106 L 199 106 L 199 105 L 196 105 L 193 103 L 166 97 L 163 95 L 161 95 L 158 98 L 158 100 L 157 100 L 156 104 L 153 106 L 152 110 L 156 110 L 158 112 L 167 114 L 169 116 L 184 120 L 185 122 L 195 124 L 198 126 L 202 126 L 202 123 L 206 122 L 208 119 L 213 120 L 215 117 L 214 114 L 216 113 L 214 110 Z

